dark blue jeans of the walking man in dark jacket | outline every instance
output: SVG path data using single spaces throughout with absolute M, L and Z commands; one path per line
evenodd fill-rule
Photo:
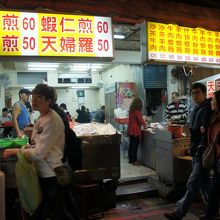
M 185 195 L 176 205 L 176 212 L 179 216 L 184 216 L 188 212 L 200 189 L 203 198 L 205 201 L 208 201 L 209 172 L 203 168 L 202 155 L 198 153 L 192 159 L 192 172 L 186 186 L 187 191 Z

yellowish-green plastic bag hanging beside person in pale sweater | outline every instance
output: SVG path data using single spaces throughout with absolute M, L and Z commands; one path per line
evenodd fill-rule
M 29 162 L 21 152 L 17 154 L 15 166 L 19 198 L 22 207 L 30 215 L 38 208 L 42 200 L 39 178 L 32 162 Z

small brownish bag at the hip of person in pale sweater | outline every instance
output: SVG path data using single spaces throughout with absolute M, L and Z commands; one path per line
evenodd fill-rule
M 67 164 L 54 168 L 54 172 L 59 185 L 67 186 L 72 182 L 73 172 Z

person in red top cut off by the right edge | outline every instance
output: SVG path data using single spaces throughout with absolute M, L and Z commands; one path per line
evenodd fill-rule
M 211 120 L 208 130 L 208 142 L 213 143 L 216 139 L 216 166 L 214 167 L 214 178 L 210 186 L 208 206 L 203 220 L 212 220 L 218 214 L 220 200 L 220 91 L 214 93 L 212 98 L 212 110 L 215 114 Z

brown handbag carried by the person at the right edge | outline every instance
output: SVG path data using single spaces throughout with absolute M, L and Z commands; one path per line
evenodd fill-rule
M 202 155 L 202 165 L 206 170 L 211 170 L 216 163 L 215 158 L 215 147 L 217 143 L 217 138 L 215 138 L 214 142 L 209 144 Z

